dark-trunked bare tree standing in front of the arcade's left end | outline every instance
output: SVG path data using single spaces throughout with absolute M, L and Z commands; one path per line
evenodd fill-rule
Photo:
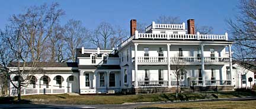
M 24 73 L 23 69 L 27 66 L 26 62 L 33 62 L 31 63 L 31 70 L 36 66 L 36 58 L 32 59 L 30 57 L 31 49 L 20 34 L 20 30 L 12 28 L 7 28 L 5 31 L 1 31 L 0 34 L 0 62 L 2 70 L 6 72 L 5 76 L 11 82 L 12 86 L 17 88 L 18 100 L 21 100 L 21 87 L 27 84 L 23 78 L 30 74 L 30 72 Z M 17 69 L 9 69 L 11 62 L 17 62 L 15 63 Z M 11 74 L 15 74 L 17 78 L 11 78 Z

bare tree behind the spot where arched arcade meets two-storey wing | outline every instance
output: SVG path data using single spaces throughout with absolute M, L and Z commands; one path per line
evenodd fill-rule
M 64 26 L 63 37 L 67 43 L 68 56 L 75 62 L 76 48 L 84 46 L 89 40 L 89 31 L 82 25 L 81 21 L 69 20 Z

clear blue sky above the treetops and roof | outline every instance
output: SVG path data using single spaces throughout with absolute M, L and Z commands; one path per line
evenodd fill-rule
M 12 14 L 19 14 L 31 5 L 59 2 L 60 8 L 65 10 L 61 23 L 69 19 L 81 20 L 85 27 L 93 29 L 102 21 L 113 25 L 120 25 L 129 30 L 131 19 L 137 22 L 150 24 L 160 15 L 180 17 L 186 23 L 189 18 L 194 18 L 198 25 L 209 25 L 214 28 L 213 33 L 224 34 L 228 26 L 226 18 L 233 18 L 237 14 L 239 0 L 158 0 L 158 1 L 14 1 L 0 0 L 0 28 L 8 23 Z

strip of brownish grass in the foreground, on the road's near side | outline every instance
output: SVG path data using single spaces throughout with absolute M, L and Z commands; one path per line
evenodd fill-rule
M 181 102 L 172 104 L 156 104 L 139 108 L 255 108 L 256 100 L 251 101 L 205 101 L 205 102 Z

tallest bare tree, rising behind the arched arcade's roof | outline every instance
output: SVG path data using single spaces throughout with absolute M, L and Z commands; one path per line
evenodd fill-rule
M 12 15 L 9 18 L 12 28 L 20 30 L 20 36 L 30 47 L 30 55 L 37 62 L 40 62 L 44 50 L 44 44 L 50 37 L 59 18 L 64 14 L 62 9 L 58 9 L 59 4 L 40 5 L 27 8 L 24 14 Z M 34 58 L 35 57 L 35 58 Z

